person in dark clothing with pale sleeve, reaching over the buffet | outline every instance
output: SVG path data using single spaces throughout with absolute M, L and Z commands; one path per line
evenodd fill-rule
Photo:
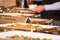
M 33 11 L 41 13 L 41 18 L 54 19 L 54 25 L 60 26 L 60 2 L 39 5 Z

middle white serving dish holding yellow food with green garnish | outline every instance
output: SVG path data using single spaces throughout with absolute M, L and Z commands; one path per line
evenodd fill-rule
M 58 26 L 51 25 L 40 25 L 40 24 L 31 24 L 31 23 L 9 23 L 9 24 L 0 24 L 0 29 L 17 29 L 25 31 L 46 31 Z M 46 29 L 46 30 L 45 30 Z

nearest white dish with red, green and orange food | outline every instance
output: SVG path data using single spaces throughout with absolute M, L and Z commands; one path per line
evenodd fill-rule
M 0 38 L 5 38 L 9 40 L 60 40 L 59 35 L 50 35 L 44 33 L 17 31 L 17 30 L 1 32 Z

